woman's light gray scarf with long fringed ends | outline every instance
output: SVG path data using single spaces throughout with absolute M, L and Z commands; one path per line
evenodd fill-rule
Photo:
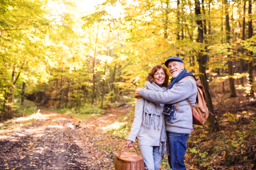
M 154 82 L 145 82 L 145 89 L 151 90 L 151 91 L 161 91 L 165 92 L 167 91 L 166 87 L 159 87 Z M 161 108 L 159 103 L 151 102 L 147 99 L 145 99 L 144 107 L 143 107 L 143 125 L 145 127 L 151 127 L 152 124 L 154 124 L 154 128 L 160 130 L 161 128 L 161 122 L 160 122 L 160 116 L 163 112 L 163 109 Z M 160 136 L 161 146 L 162 146 L 162 155 L 169 155 L 169 142 L 167 139 L 166 134 L 166 122 L 165 119 L 163 119 L 163 126 L 161 129 L 161 136 Z M 160 152 L 160 150 L 159 150 Z

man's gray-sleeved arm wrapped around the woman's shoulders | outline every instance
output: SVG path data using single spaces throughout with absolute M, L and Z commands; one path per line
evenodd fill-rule
M 189 78 L 190 79 L 190 78 Z M 140 89 L 139 95 L 144 99 L 151 102 L 161 103 L 161 104 L 172 104 L 181 102 L 193 95 L 193 88 L 197 88 L 196 85 L 192 84 L 192 79 L 183 79 L 178 82 L 170 90 L 166 92 L 150 91 L 145 89 Z M 194 80 L 193 80 L 194 81 Z M 196 83 L 195 83 L 196 84 Z

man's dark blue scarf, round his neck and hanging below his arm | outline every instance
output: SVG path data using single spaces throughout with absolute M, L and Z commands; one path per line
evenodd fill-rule
M 184 70 L 181 71 L 180 74 L 176 78 L 172 77 L 171 85 L 169 86 L 168 90 L 171 89 L 175 85 L 175 83 L 179 82 L 181 79 L 183 79 L 184 77 L 187 77 L 187 76 L 192 76 L 195 79 L 195 76 L 190 72 L 187 73 L 186 68 L 184 68 Z M 172 104 L 165 104 L 164 107 L 168 107 L 168 108 L 172 109 Z M 170 121 L 171 119 L 172 120 L 174 119 L 175 108 L 173 108 L 173 109 L 174 109 L 174 111 L 170 116 L 164 115 L 164 118 L 166 119 L 166 121 Z

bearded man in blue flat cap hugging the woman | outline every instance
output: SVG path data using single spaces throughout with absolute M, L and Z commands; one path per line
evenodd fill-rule
M 170 57 L 166 60 L 165 65 L 172 75 L 168 90 L 156 92 L 139 88 L 135 91 L 135 97 L 140 96 L 152 102 L 165 104 L 165 108 L 174 110 L 171 115 L 165 115 L 170 145 L 168 162 L 172 170 L 186 170 L 184 163 L 186 141 L 189 139 L 193 125 L 192 111 L 185 99 L 195 105 L 197 85 L 195 76 L 190 72 L 187 73 L 183 60 L 179 57 Z

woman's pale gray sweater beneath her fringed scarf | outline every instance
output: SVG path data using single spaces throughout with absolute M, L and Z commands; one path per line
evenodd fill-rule
M 148 90 L 151 91 L 151 90 Z M 163 92 L 160 92 L 163 93 Z M 137 99 L 135 105 L 135 113 L 134 113 L 134 122 L 132 123 L 131 133 L 127 140 L 131 140 L 135 142 L 136 136 L 139 139 L 140 145 L 148 145 L 148 146 L 160 146 L 160 134 L 161 128 L 154 128 L 154 125 L 151 127 L 145 127 L 143 125 L 143 106 L 144 106 L 143 98 Z M 163 110 L 164 105 L 160 104 L 160 107 Z M 163 125 L 163 114 L 160 116 L 160 127 Z

